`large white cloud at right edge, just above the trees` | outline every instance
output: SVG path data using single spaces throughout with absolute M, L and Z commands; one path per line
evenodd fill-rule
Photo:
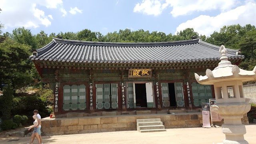
M 233 10 L 223 12 L 217 16 L 201 15 L 192 20 L 188 20 L 180 24 L 176 28 L 176 32 L 184 30 L 186 28 L 194 28 L 194 31 L 199 34 L 205 34 L 210 36 L 214 31 L 219 31 L 220 28 L 232 24 L 240 24 L 245 26 L 246 24 L 256 25 L 256 2 L 247 1 L 245 5 L 239 6 Z

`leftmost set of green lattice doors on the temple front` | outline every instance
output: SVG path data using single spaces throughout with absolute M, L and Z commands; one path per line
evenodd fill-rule
M 86 86 L 64 85 L 63 86 L 63 110 L 86 109 Z

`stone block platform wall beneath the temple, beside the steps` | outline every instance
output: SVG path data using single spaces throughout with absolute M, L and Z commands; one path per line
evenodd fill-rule
M 132 116 L 96 116 L 80 118 L 44 118 L 42 135 L 83 134 L 136 130 L 137 119 L 161 118 L 165 128 L 192 128 L 202 126 L 202 114 L 150 114 Z

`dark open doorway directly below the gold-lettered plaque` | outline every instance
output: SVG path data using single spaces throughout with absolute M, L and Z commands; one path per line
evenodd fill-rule
M 146 84 L 135 84 L 136 107 L 147 107 Z

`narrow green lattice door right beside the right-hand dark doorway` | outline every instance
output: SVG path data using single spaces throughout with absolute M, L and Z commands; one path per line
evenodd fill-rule
M 184 107 L 184 94 L 183 94 L 182 82 L 175 82 L 174 88 L 175 88 L 177 106 Z

